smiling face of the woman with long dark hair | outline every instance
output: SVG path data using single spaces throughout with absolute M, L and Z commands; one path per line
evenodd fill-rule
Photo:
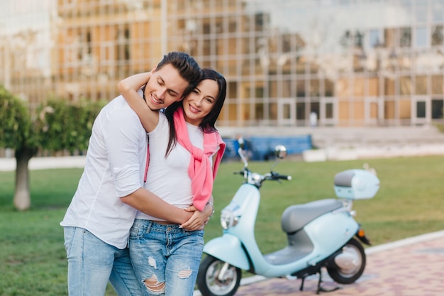
M 213 109 L 218 97 L 219 87 L 214 80 L 202 80 L 197 87 L 184 98 L 185 121 L 199 126 L 204 117 Z

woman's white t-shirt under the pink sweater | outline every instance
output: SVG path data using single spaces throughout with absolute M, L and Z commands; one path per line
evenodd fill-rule
M 189 139 L 191 143 L 203 149 L 204 133 L 198 126 L 187 123 Z M 150 137 L 150 165 L 148 167 L 147 182 L 145 188 L 158 197 L 179 208 L 187 208 L 192 205 L 192 180 L 188 174 L 191 154 L 176 143 L 170 154 L 165 158 L 170 128 L 168 121 L 162 112 L 159 113 L 159 123 L 156 128 L 148 133 Z M 212 159 L 210 158 L 210 161 Z M 161 221 L 143 212 L 138 212 L 138 219 Z

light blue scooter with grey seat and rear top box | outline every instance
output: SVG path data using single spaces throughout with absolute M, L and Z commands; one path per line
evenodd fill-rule
M 260 175 L 248 169 L 243 140 L 238 153 L 244 162 L 240 171 L 245 182 L 221 212 L 223 235 L 204 246 L 197 285 L 204 296 L 234 295 L 240 284 L 241 270 L 268 278 L 300 278 L 319 274 L 321 268 L 341 284 L 354 283 L 365 268 L 362 243 L 370 244 L 357 224 L 353 200 L 374 197 L 379 179 L 367 170 L 345 170 L 335 175 L 334 189 L 338 199 L 321 199 L 288 207 L 282 214 L 282 230 L 288 245 L 279 251 L 262 254 L 255 240 L 255 220 L 260 204 L 260 187 L 265 180 L 291 180 L 290 176 L 269 172 Z M 277 160 L 287 155 L 284 146 L 275 149 Z

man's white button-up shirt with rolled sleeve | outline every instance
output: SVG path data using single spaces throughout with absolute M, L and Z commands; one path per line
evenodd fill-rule
M 82 227 L 125 248 L 137 210 L 120 197 L 142 187 L 146 156 L 140 119 L 123 97 L 113 99 L 94 121 L 84 172 L 60 225 Z

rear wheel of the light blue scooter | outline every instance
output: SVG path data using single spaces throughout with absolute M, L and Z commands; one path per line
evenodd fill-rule
M 350 257 L 351 264 L 333 263 L 333 265 L 327 267 L 328 275 L 336 282 L 340 284 L 351 284 L 360 278 L 365 269 L 365 251 L 359 241 L 356 239 L 350 239 L 348 243 L 345 243 L 341 253 L 333 258 L 333 262 L 340 261 L 340 256 L 344 256 L 346 259 Z M 340 266 L 342 265 L 342 267 Z

